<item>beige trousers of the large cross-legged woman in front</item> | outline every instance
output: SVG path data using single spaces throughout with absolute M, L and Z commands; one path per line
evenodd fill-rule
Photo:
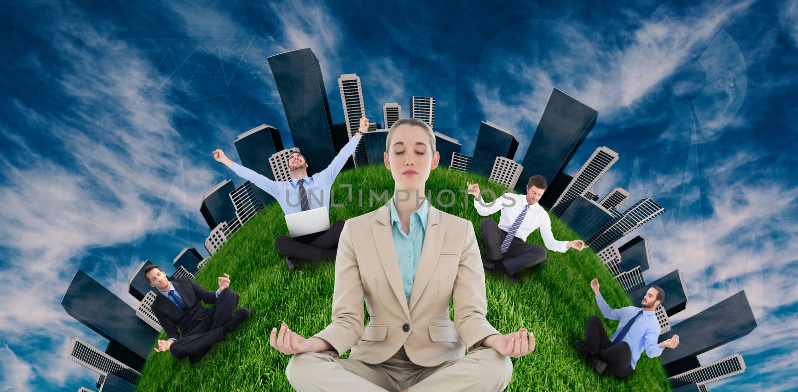
M 410 362 L 402 347 L 384 363 L 338 359 L 330 351 L 294 355 L 286 367 L 291 386 L 299 392 L 351 391 L 501 391 L 510 382 L 512 362 L 488 347 L 463 359 L 422 367 Z

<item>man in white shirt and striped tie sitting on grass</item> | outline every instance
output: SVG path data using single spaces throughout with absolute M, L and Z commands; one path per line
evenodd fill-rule
M 474 208 L 478 214 L 486 216 L 501 210 L 499 223 L 493 218 L 484 218 L 480 222 L 487 258 L 483 261 L 484 269 L 502 271 L 516 281 L 516 273 L 521 269 L 546 260 L 543 246 L 527 244 L 527 237 L 535 229 L 540 229 L 543 245 L 556 252 L 564 253 L 568 248 L 588 248 L 582 240 L 557 241 L 551 233 L 551 218 L 538 204 L 546 191 L 546 178 L 543 176 L 533 175 L 529 178 L 527 194 L 508 192 L 488 206 L 480 198 L 480 184 L 466 184 L 468 194 L 474 195 Z

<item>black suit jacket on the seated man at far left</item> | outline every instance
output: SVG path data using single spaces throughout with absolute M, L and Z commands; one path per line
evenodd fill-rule
M 164 327 L 167 335 L 166 339 L 180 339 L 177 327 L 180 327 L 180 332 L 183 335 L 188 335 L 188 332 L 199 324 L 208 310 L 199 300 L 206 304 L 214 304 L 216 302 L 216 293 L 203 288 L 188 276 L 172 280 L 172 285 L 183 297 L 188 310 L 180 309 L 172 300 L 169 300 L 167 296 L 159 292 L 152 302 L 152 313 L 158 318 L 161 327 Z

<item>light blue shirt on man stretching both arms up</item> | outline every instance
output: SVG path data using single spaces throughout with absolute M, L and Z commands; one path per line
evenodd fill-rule
M 310 210 L 330 205 L 330 188 L 332 188 L 335 178 L 338 177 L 338 173 L 341 172 L 344 164 L 346 164 L 346 159 L 349 159 L 354 153 L 355 147 L 358 147 L 359 141 L 360 137 L 352 136 L 349 143 L 346 143 L 346 146 L 335 156 L 330 166 L 313 174 L 311 177 L 304 177 L 305 183 L 302 186 L 305 187 Z M 302 211 L 302 206 L 299 203 L 299 185 L 297 183 L 299 178 L 291 178 L 290 181 L 275 181 L 235 162 L 231 169 L 239 177 L 249 180 L 255 186 L 277 199 L 282 212 L 286 215 Z

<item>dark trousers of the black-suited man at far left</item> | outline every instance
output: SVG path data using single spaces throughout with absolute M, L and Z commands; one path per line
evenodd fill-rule
M 205 308 L 201 319 L 197 319 L 188 331 L 180 331 L 182 336 L 169 351 L 176 359 L 188 357 L 191 363 L 199 362 L 211 347 L 225 340 L 222 327 L 230 322 L 232 313 L 239 306 L 239 293 L 225 288 L 211 308 Z M 187 316 L 188 317 L 188 316 Z

